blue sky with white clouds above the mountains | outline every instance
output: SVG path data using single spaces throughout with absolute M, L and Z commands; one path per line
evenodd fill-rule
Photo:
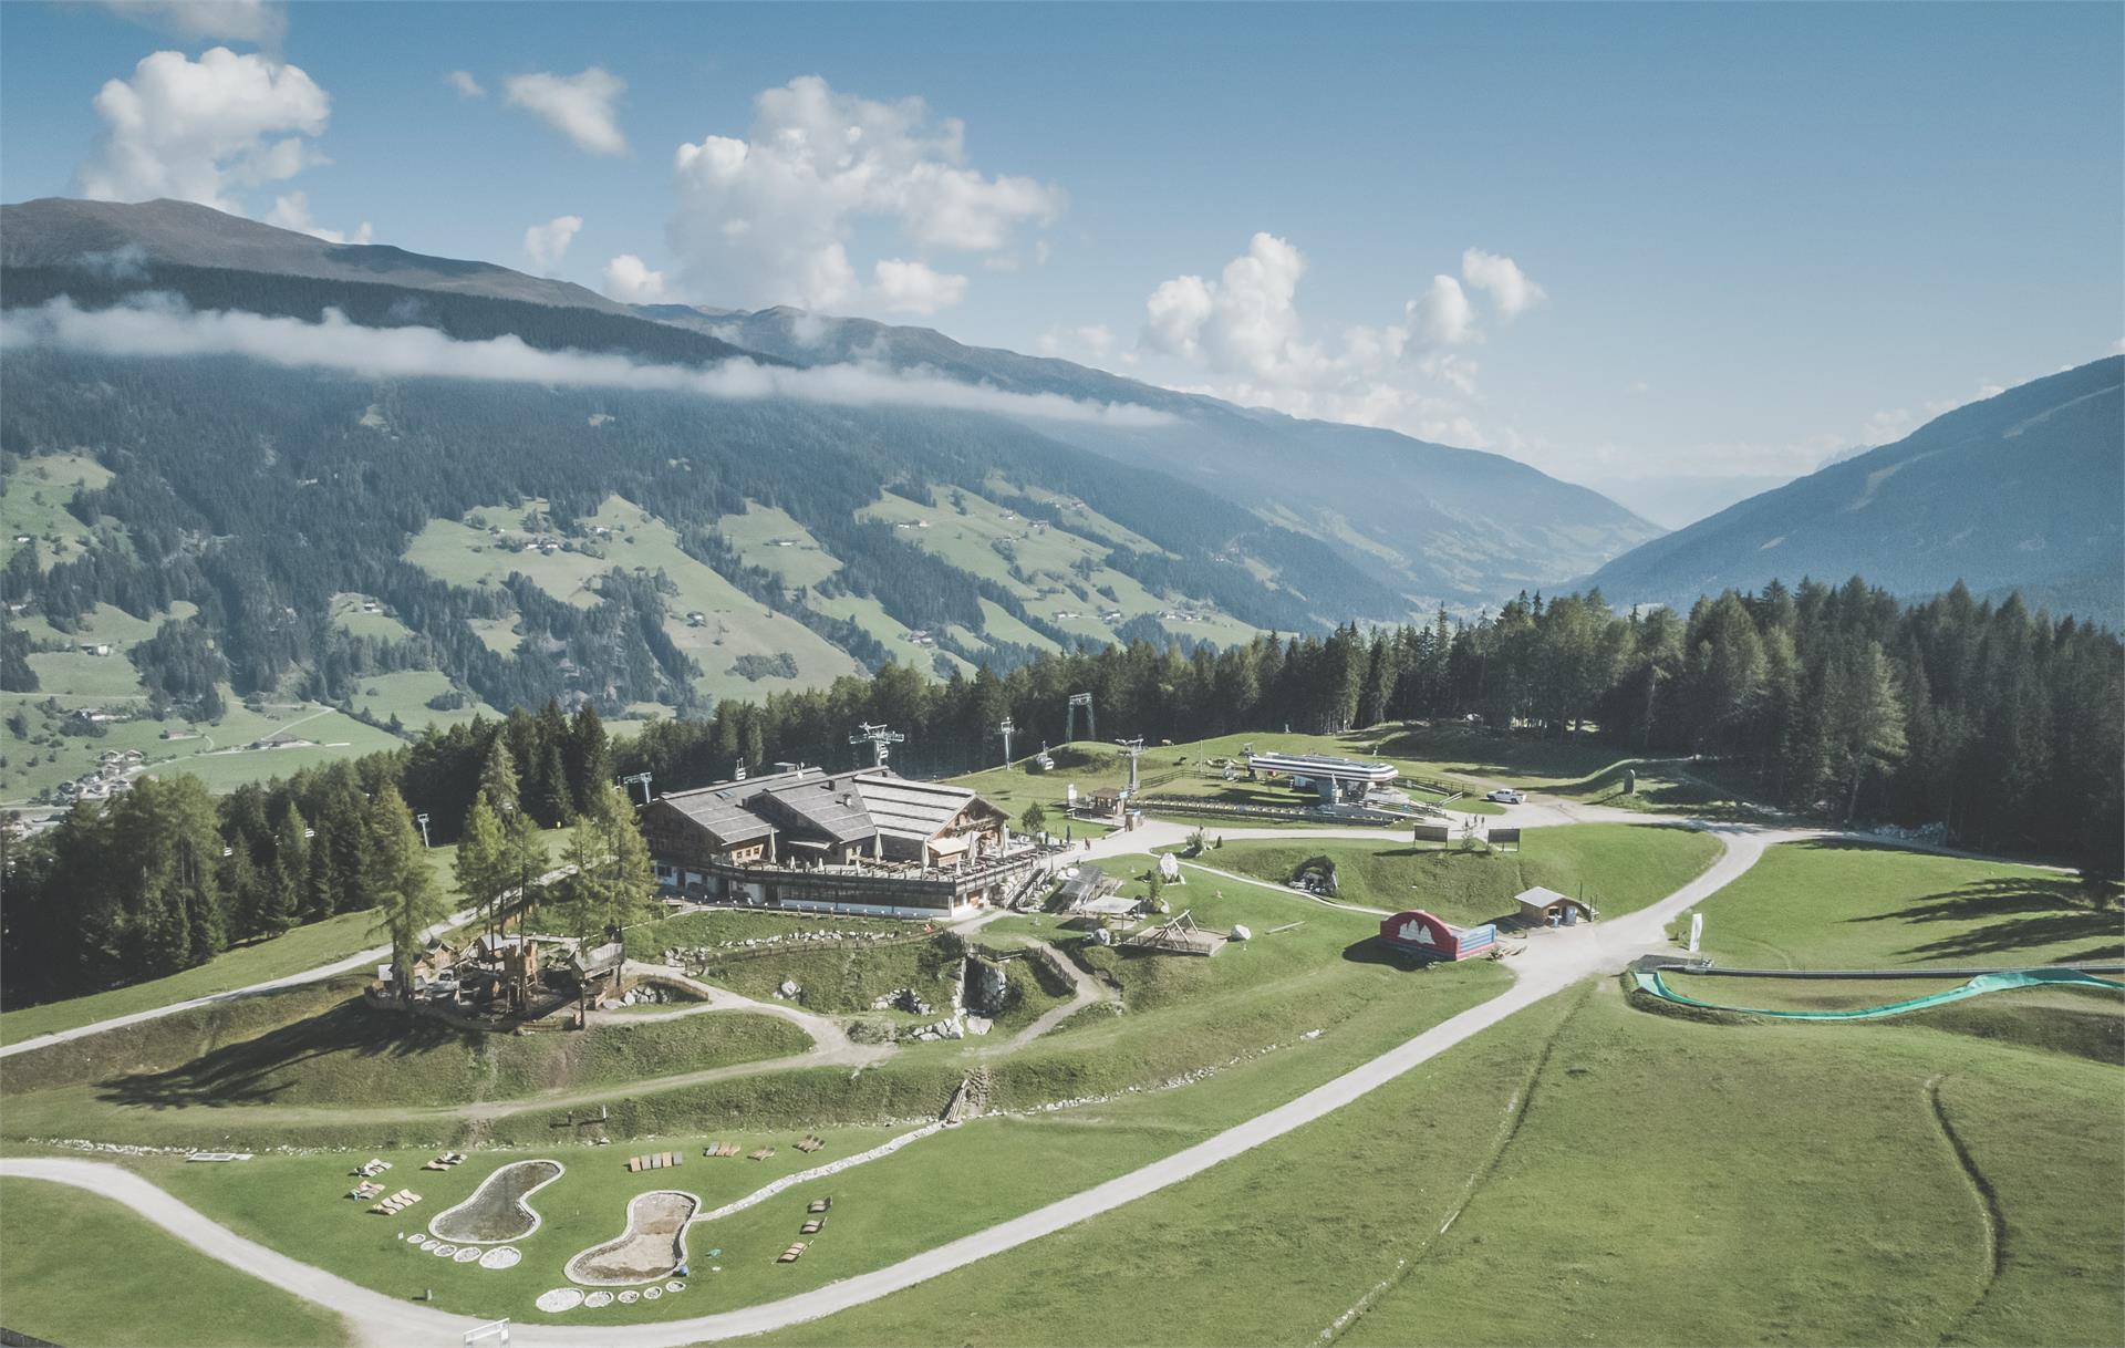
M 1655 510 L 2116 349 L 2121 51 L 2114 4 L 17 2 L 0 198 L 926 323 Z

